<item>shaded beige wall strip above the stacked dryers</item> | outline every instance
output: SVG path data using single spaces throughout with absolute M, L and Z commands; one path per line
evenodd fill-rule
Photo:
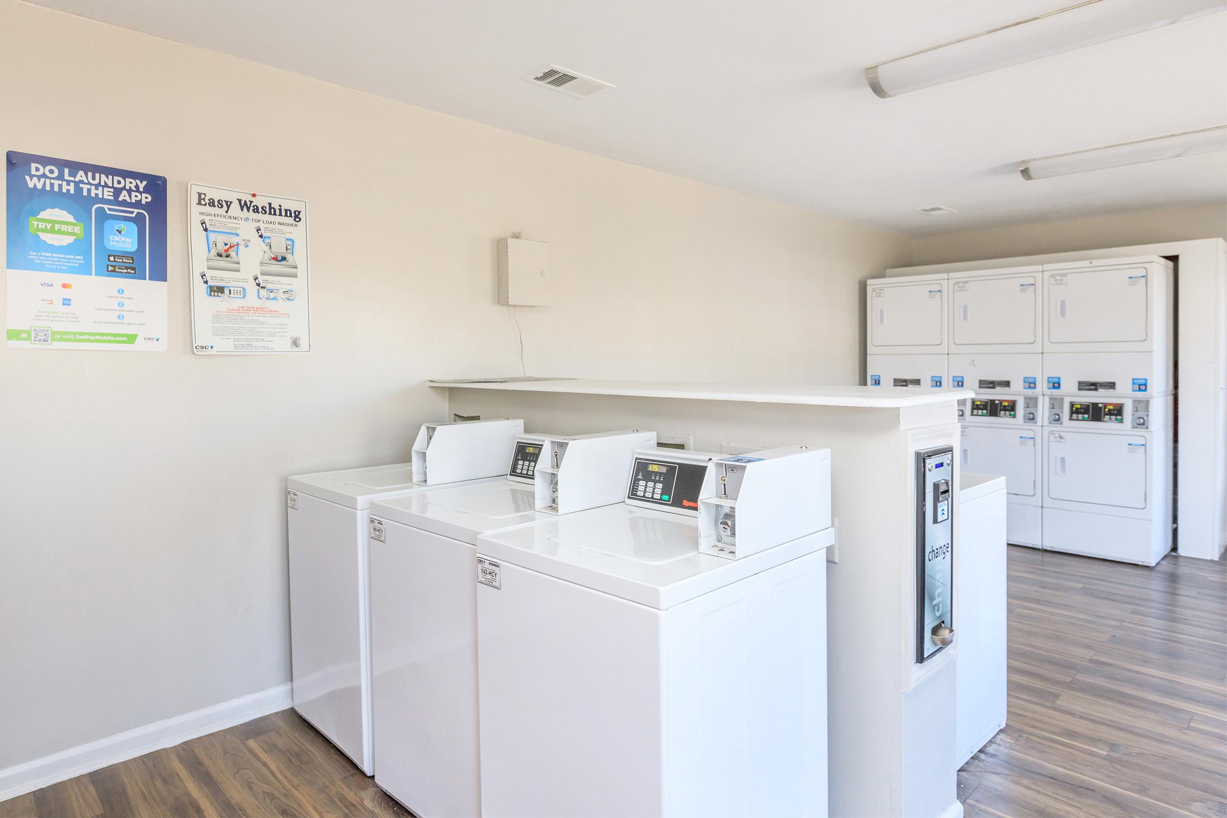
M 977 261 L 1223 237 L 1227 237 L 1227 204 L 1134 210 L 1036 224 L 921 235 L 912 239 L 912 264 Z

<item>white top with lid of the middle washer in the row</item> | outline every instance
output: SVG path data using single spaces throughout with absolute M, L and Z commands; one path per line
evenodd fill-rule
M 550 516 L 536 510 L 534 486 L 506 477 L 380 498 L 372 503 L 371 514 L 470 545 L 482 532 Z

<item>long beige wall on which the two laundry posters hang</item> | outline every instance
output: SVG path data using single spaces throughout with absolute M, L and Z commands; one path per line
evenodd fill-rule
M 909 258 L 898 235 L 13 0 L 0 75 L 5 150 L 171 188 L 169 352 L 0 348 L 0 770 L 288 679 L 285 477 L 407 459 L 447 408 L 423 379 L 518 372 L 496 237 L 553 249 L 556 305 L 518 310 L 529 373 L 595 378 L 858 383 L 859 282 Z M 191 354 L 189 180 L 310 202 L 309 354 Z M 707 336 L 715 312 L 744 334 Z

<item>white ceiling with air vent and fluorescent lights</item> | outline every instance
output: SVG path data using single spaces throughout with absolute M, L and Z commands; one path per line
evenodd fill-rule
M 879 99 L 865 65 L 1071 0 L 38 1 L 907 233 L 1227 201 L 1227 152 L 1016 170 L 1227 124 L 1227 13 Z M 617 87 L 521 81 L 551 63 Z

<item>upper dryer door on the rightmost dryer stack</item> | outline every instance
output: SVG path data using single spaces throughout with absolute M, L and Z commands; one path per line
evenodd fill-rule
M 1047 285 L 1049 343 L 1146 340 L 1146 267 L 1052 272 Z

